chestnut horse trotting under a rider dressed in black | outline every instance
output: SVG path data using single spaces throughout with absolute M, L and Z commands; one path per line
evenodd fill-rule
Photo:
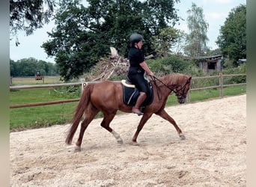
M 185 139 L 185 136 L 183 135 L 183 132 L 180 130 L 179 126 L 177 126 L 177 123 L 166 113 L 165 103 L 168 99 L 168 95 L 170 95 L 171 92 L 176 93 L 177 101 L 180 104 L 184 103 L 186 94 L 190 88 L 191 79 L 191 76 L 186 76 L 180 73 L 162 76 L 159 79 L 153 77 L 153 80 L 150 81 L 154 92 L 153 102 L 144 108 L 144 114 L 138 123 L 137 130 L 132 138 L 132 143 L 137 143 L 138 133 L 141 131 L 144 124 L 152 116 L 152 114 L 157 114 L 163 119 L 172 123 L 180 138 Z M 103 113 L 103 121 L 100 125 L 111 132 L 119 144 L 123 143 L 120 135 L 109 126 L 109 123 L 111 123 L 118 110 L 127 113 L 132 112 L 132 106 L 125 105 L 123 102 L 122 87 L 123 85 L 121 82 L 110 81 L 85 86 L 79 103 L 76 106 L 73 119 L 71 120 L 71 126 L 67 134 L 66 144 L 71 144 L 73 135 L 79 126 L 80 120 L 82 117 L 84 117 L 84 120 L 82 120 L 81 123 L 79 138 L 76 141 L 75 148 L 75 151 L 80 151 L 85 129 L 100 111 Z

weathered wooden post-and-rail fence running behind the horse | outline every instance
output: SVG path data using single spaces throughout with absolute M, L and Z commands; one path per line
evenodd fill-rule
M 222 73 L 219 73 L 219 76 L 192 77 L 192 80 L 219 78 L 219 85 L 203 87 L 203 88 L 191 88 L 187 95 L 186 101 L 190 102 L 191 91 L 219 88 L 219 96 L 223 97 L 223 88 L 229 87 L 229 86 L 246 85 L 246 83 L 224 85 L 223 78 L 228 77 L 228 76 L 246 76 L 246 74 L 222 75 Z M 34 89 L 34 88 L 58 88 L 58 87 L 69 87 L 69 86 L 79 86 L 79 85 L 81 86 L 81 89 L 83 91 L 83 88 L 85 88 L 86 85 L 94 84 L 94 83 L 97 83 L 97 82 L 84 82 L 84 80 L 82 80 L 82 82 L 51 84 L 51 85 L 20 85 L 20 86 L 10 86 L 10 91 L 11 90 L 21 90 L 21 89 Z M 23 107 L 40 106 L 40 105 L 54 105 L 54 104 L 61 104 L 64 102 L 78 102 L 78 101 L 79 101 L 79 99 L 65 99 L 65 100 L 50 101 L 50 102 L 35 102 L 35 103 L 10 105 L 10 108 L 23 108 Z

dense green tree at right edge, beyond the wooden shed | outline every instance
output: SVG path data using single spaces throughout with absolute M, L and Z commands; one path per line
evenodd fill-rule
M 240 4 L 228 14 L 224 25 L 220 28 L 216 41 L 222 55 L 230 58 L 233 64 L 238 59 L 246 58 L 246 5 Z

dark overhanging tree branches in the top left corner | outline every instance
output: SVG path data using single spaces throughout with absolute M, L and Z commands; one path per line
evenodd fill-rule
M 10 34 L 16 36 L 17 31 L 33 34 L 34 30 L 49 22 L 54 7 L 55 1 L 52 0 L 10 0 Z

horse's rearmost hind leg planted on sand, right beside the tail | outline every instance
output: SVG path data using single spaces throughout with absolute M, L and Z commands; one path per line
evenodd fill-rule
M 85 134 L 85 129 L 87 129 L 88 125 L 91 123 L 91 121 L 94 119 L 94 117 L 98 114 L 99 111 L 97 110 L 88 110 L 85 112 L 85 119 L 81 123 L 81 128 L 80 128 L 80 133 L 79 133 L 79 138 L 76 141 L 76 151 L 81 151 L 81 144 L 82 144 L 82 138 L 84 137 Z

